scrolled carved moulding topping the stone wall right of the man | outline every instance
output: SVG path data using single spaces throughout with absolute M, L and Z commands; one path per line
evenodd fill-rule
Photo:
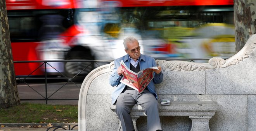
M 237 54 L 224 60 L 221 57 L 213 57 L 208 63 L 196 63 L 187 62 L 182 60 L 156 60 L 157 65 L 162 66 L 163 70 L 184 70 L 184 71 L 194 71 L 194 70 L 206 70 L 215 69 L 220 67 L 227 67 L 233 64 L 241 62 L 243 59 L 249 57 L 256 50 L 256 34 L 252 35 L 246 44 Z

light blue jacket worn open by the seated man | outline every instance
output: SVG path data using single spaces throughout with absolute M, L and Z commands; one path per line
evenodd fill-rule
M 120 66 L 119 62 L 121 60 L 123 60 L 125 62 L 125 65 L 130 69 L 130 59 L 129 59 L 128 54 L 114 60 L 115 67 L 111 73 L 111 76 L 109 77 L 109 84 L 111 86 L 116 86 L 116 89 L 112 92 L 112 96 L 111 96 L 112 104 L 115 104 L 116 99 L 118 98 L 119 94 L 121 94 L 121 92 L 125 89 L 125 84 L 120 82 L 121 76 L 118 76 L 118 73 L 117 73 L 117 69 Z M 156 61 L 154 58 L 152 58 L 150 56 L 140 54 L 139 64 L 140 64 L 140 70 L 143 70 L 145 68 L 156 66 Z M 162 81 L 163 81 L 163 73 L 161 72 L 159 74 L 156 74 L 154 72 L 154 78 L 147 85 L 149 92 L 151 92 L 156 97 L 156 99 L 157 99 L 157 94 L 156 94 L 156 89 L 155 89 L 154 84 L 159 84 Z

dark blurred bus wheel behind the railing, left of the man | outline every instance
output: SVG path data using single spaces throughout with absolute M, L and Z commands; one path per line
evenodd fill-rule
M 84 48 L 84 47 L 82 47 Z M 78 62 L 65 62 L 65 74 L 69 77 L 68 81 L 83 81 L 86 75 L 93 70 L 93 62 L 79 62 L 79 60 L 93 60 L 90 50 L 71 50 L 66 60 L 78 60 Z

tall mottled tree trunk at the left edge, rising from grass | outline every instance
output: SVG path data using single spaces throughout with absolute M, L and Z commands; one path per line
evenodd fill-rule
M 5 0 L 0 0 L 0 108 L 20 103 Z

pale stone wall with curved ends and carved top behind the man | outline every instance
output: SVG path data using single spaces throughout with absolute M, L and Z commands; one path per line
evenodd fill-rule
M 212 116 L 209 119 L 209 128 L 212 131 L 256 131 L 256 35 L 249 38 L 240 52 L 226 60 L 213 57 L 208 63 L 180 60 L 156 62 L 162 66 L 164 74 L 163 82 L 155 85 L 159 103 L 161 99 L 169 99 L 172 102 L 185 101 L 190 104 L 194 103 L 191 101 L 213 101 L 218 105 L 218 111 L 214 116 L 205 116 Z M 100 66 L 85 77 L 78 101 L 79 131 L 120 129 L 116 113 L 109 109 L 111 93 L 115 89 L 108 82 L 113 66 L 113 63 Z M 211 104 L 192 105 L 198 107 L 196 109 L 209 107 L 206 112 L 200 111 L 202 114 L 207 113 L 207 110 L 217 110 L 211 108 Z M 192 111 L 192 105 L 161 106 L 160 121 L 163 131 L 187 130 L 191 120 L 194 121 L 196 117 L 190 114 L 198 113 Z M 168 111 L 164 110 L 165 108 Z M 180 111 L 173 110 L 175 108 Z M 134 109 L 136 110 L 136 106 Z M 137 129 L 145 131 L 146 116 L 143 116 L 142 111 L 132 113 L 137 113 L 138 116 Z M 179 114 L 181 116 L 178 116 Z M 198 121 L 193 123 L 195 125 Z

